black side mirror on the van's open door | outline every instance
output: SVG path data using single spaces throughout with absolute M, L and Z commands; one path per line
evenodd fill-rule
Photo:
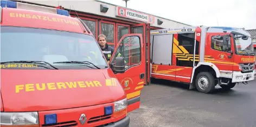
M 116 57 L 116 59 L 114 59 L 114 63 L 111 64 L 111 69 L 114 71 L 114 73 L 124 73 L 124 57 Z

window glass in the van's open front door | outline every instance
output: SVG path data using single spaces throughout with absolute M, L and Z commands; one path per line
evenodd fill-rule
M 138 36 L 127 36 L 121 41 L 116 54 L 114 54 L 111 64 L 116 57 L 124 57 L 125 69 L 132 65 L 137 65 L 141 61 L 140 40 Z

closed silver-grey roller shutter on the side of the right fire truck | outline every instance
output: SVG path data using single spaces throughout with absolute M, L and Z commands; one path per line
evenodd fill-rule
M 152 63 L 171 65 L 173 35 L 154 35 L 152 38 Z

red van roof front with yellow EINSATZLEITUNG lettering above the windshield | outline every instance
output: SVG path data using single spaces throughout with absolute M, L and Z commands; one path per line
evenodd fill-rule
M 89 34 L 77 18 L 17 8 L 3 7 L 1 11 L 2 26 L 22 26 Z

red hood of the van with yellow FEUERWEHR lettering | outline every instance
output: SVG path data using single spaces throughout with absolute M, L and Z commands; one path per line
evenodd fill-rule
M 111 103 L 125 97 L 123 88 L 113 77 L 110 69 L 1 69 L 3 108 L 4 111 L 45 111 Z

